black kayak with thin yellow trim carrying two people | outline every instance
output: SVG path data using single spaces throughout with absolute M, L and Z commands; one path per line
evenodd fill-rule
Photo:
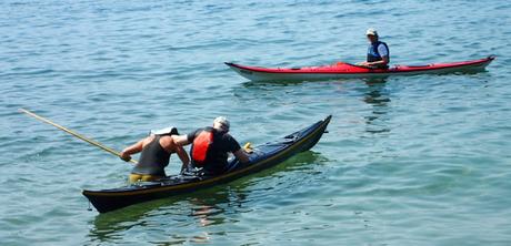
M 331 116 L 328 116 L 323 121 L 319 121 L 278 141 L 255 146 L 253 153 L 249 155 L 249 164 L 240 164 L 238 161 L 231 160 L 229 162 L 230 171 L 219 176 L 176 175 L 157 182 L 142 182 L 120 188 L 84 189 L 82 194 L 99 213 L 106 213 L 151 199 L 191 193 L 224 184 L 275 166 L 300 152 L 310 150 L 323 135 L 330 119 Z

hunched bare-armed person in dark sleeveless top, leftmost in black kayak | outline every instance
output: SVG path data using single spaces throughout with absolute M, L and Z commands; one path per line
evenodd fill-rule
M 130 183 L 139 181 L 156 181 L 167 177 L 166 166 L 169 165 L 170 155 L 177 153 L 183 163 L 181 170 L 190 163 L 190 157 L 184 148 L 176 144 L 174 137 L 179 135 L 176 127 L 168 127 L 151 133 L 148 137 L 124 148 L 120 157 L 127 162 L 131 155 L 141 152 L 139 163 L 129 176 Z

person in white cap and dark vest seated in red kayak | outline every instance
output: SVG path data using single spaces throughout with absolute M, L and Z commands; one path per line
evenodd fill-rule
M 390 52 L 387 43 L 379 41 L 377 30 L 370 28 L 365 32 L 369 40 L 368 58 L 365 62 L 358 63 L 359 65 L 370 69 L 388 69 L 390 62 Z

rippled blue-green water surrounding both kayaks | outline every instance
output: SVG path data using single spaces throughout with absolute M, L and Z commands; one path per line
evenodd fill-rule
M 510 245 L 510 11 L 497 0 L 1 1 L 0 244 Z M 498 60 L 384 83 L 251 83 L 222 64 L 357 62 L 369 27 L 393 63 Z M 99 215 L 81 189 L 120 186 L 130 165 L 18 107 L 118 150 L 217 115 L 255 144 L 334 117 L 275 168 Z

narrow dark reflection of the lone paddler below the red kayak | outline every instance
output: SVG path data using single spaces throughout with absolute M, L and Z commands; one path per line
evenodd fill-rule
M 385 90 L 387 79 L 368 79 L 364 81 L 368 86 L 363 101 L 372 106 L 371 114 L 364 116 L 368 125 L 365 131 L 372 134 L 390 132 L 384 122 L 390 102 L 389 92 Z

